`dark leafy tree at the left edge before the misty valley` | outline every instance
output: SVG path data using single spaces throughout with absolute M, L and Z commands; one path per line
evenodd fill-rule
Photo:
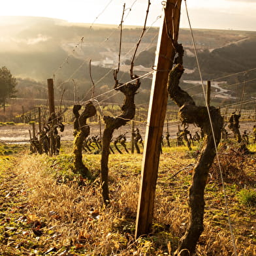
M 16 78 L 12 76 L 7 67 L 2 67 L 0 69 L 0 104 L 2 104 L 4 112 L 7 98 L 14 97 L 17 84 Z

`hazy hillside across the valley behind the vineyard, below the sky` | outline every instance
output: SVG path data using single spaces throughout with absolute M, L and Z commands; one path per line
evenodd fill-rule
M 129 80 L 131 57 L 141 32 L 142 27 L 123 29 L 121 82 Z M 158 29 L 152 27 L 142 39 L 135 65 L 148 69 L 141 67 L 140 72 L 138 68 L 138 74 L 150 71 L 154 63 L 157 35 Z M 196 29 L 194 36 L 204 79 L 256 67 L 256 32 Z M 70 24 L 51 18 L 2 16 L 0 37 L 0 66 L 6 66 L 14 76 L 20 78 L 18 97 L 25 97 L 27 91 L 32 97 L 43 95 L 39 88 L 45 87 L 46 79 L 52 76 L 56 78 L 56 86 L 60 91 L 65 88 L 71 92 L 74 79 L 78 94 L 83 97 L 91 87 L 89 59 L 93 65 L 93 79 L 99 81 L 97 93 L 112 88 L 114 84 L 112 69 L 118 63 L 120 37 L 117 25 L 94 24 L 90 27 L 88 24 Z M 190 71 L 184 74 L 184 80 L 199 80 L 188 29 L 180 29 L 179 41 L 185 48 L 184 66 Z M 229 80 L 240 82 L 245 76 L 247 80 L 253 79 L 256 72 L 247 72 Z M 148 100 L 150 86 L 150 78 L 144 79 L 138 101 Z M 248 91 L 253 91 L 251 87 L 253 83 L 248 83 Z M 65 97 L 71 95 L 72 92 Z

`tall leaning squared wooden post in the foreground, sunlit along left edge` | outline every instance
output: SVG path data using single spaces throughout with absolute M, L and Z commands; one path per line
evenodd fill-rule
M 167 110 L 168 72 L 172 69 L 175 50 L 172 40 L 167 35 L 172 34 L 174 43 L 178 40 L 180 26 L 180 6 L 182 0 L 167 0 L 163 25 L 159 29 L 159 39 L 155 57 L 155 69 L 152 80 L 150 106 L 148 110 L 148 125 L 146 127 L 145 147 L 142 159 L 142 180 L 138 198 L 135 236 L 148 234 L 151 231 L 155 186 L 159 166 L 161 136 Z

